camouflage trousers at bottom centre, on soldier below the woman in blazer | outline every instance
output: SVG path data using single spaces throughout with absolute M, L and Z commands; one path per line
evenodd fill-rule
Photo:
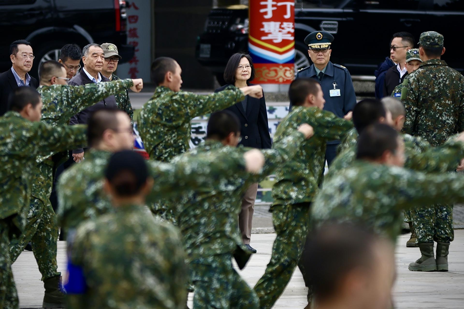
M 232 267 L 232 254 L 217 254 L 190 263 L 195 309 L 257 309 L 259 299 Z

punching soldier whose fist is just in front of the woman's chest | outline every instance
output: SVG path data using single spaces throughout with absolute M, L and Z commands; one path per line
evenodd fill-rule
M 197 116 L 225 109 L 243 101 L 245 95 L 261 98 L 261 86 L 248 86 L 215 93 L 196 95 L 180 91 L 182 78 L 180 65 L 172 58 L 160 57 L 152 64 L 152 76 L 158 87 L 151 99 L 142 107 L 137 121 L 140 137 L 148 155 L 153 160 L 169 162 L 189 148 L 191 120 Z M 172 223 L 174 208 L 163 202 L 151 205 L 154 214 Z

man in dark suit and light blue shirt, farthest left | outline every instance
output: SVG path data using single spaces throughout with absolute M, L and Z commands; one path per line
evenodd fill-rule
M 32 69 L 34 54 L 32 47 L 26 40 L 14 41 L 10 45 L 11 69 L 0 74 L 0 116 L 8 110 L 7 101 L 13 89 L 19 86 L 39 87 L 37 80 L 29 76 Z

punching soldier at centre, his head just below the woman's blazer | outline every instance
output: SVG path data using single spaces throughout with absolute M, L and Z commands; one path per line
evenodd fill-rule
M 171 162 L 184 158 L 196 160 L 214 151 L 229 157 L 249 149 L 235 147 L 240 139 L 240 122 L 229 111 L 211 115 L 207 131 L 203 145 Z M 232 268 L 232 256 L 243 269 L 251 255 L 238 229 L 241 199 L 250 183 L 262 180 L 277 166 L 292 160 L 303 139 L 313 132 L 308 125 L 301 126 L 298 131 L 289 132 L 289 136 L 275 143 L 273 149 L 261 150 L 266 162 L 258 175 L 237 177 L 234 173 L 225 173 L 219 180 L 219 189 L 192 190 L 183 209 L 176 211 L 195 285 L 194 308 L 258 308 L 258 296 Z

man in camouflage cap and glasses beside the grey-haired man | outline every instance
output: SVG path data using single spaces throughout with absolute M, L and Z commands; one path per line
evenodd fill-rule
M 120 78 L 114 74 L 114 71 L 117 69 L 117 63 L 121 60 L 119 56 L 117 47 L 115 44 L 103 43 L 103 55 L 105 61 L 103 62 L 102 75 L 108 78 L 110 81 L 117 81 Z M 129 92 L 126 90 L 122 93 L 115 95 L 116 105 L 119 109 L 126 112 L 130 117 L 130 122 L 134 125 L 134 111 L 132 110 L 132 105 L 130 104 Z

